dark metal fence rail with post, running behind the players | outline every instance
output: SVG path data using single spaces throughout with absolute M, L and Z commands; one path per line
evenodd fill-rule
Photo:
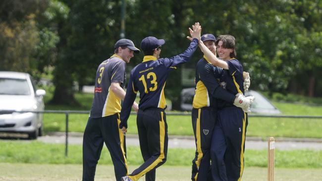
M 1 113 L 6 113 L 7 111 L 0 110 Z M 90 114 L 90 111 L 72 111 L 72 110 L 46 110 L 46 111 L 11 111 L 11 112 L 32 112 L 32 113 L 54 113 L 54 114 L 65 114 L 65 156 L 68 156 L 68 118 L 69 114 Z M 136 112 L 131 112 L 131 114 L 136 114 Z M 174 116 L 191 116 L 191 112 L 166 112 L 166 115 Z M 266 118 L 306 118 L 306 119 L 322 119 L 322 116 L 292 116 L 292 115 L 261 115 L 261 114 L 249 114 L 248 117 L 266 117 Z

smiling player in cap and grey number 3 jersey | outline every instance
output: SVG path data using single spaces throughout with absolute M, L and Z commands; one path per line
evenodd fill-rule
M 140 50 L 128 39 L 117 41 L 114 48 L 114 54 L 96 72 L 94 100 L 83 137 L 83 181 L 94 181 L 104 143 L 114 165 L 116 181 L 128 175 L 125 135 L 118 129 L 119 113 L 121 99 L 125 97 L 125 66 Z M 138 110 L 136 102 L 131 106 Z

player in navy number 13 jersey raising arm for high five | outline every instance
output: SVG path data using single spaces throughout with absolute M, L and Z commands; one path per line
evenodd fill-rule
M 169 72 L 176 69 L 176 66 L 190 60 L 198 48 L 201 32 L 199 23 L 195 23 L 191 31 L 192 41 L 189 47 L 183 53 L 170 58 L 160 58 L 161 45 L 165 43 L 164 40 L 158 40 L 155 37 L 146 37 L 142 40 L 141 48 L 145 56 L 143 62 L 131 71 L 121 109 L 119 128 L 123 132 L 127 131 L 127 119 L 130 115 L 131 105 L 139 91 L 137 128 L 144 163 L 132 174 L 123 177 L 123 181 L 137 181 L 144 175 L 146 175 L 146 181 L 155 181 L 156 168 L 166 161 L 168 136 L 164 113 L 166 108 L 165 81 Z

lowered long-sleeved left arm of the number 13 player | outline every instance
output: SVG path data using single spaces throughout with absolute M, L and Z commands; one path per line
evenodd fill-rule
M 119 124 L 119 129 L 122 129 L 122 132 L 125 133 L 127 130 L 127 120 L 131 113 L 131 106 L 136 98 L 138 89 L 135 88 L 133 83 L 132 74 L 130 76 L 129 83 L 127 85 L 126 94 L 121 108 L 120 119 L 121 123 Z

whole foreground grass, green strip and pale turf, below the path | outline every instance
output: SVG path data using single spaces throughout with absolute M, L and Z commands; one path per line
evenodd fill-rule
M 0 140 L 0 181 L 81 181 L 82 147 L 70 145 L 68 157 L 63 144 L 36 140 Z M 157 169 L 157 181 L 188 181 L 194 149 L 169 149 L 167 162 Z M 132 172 L 143 160 L 139 147 L 129 146 L 128 165 Z M 321 181 L 322 151 L 275 152 L 276 181 Z M 113 167 L 104 147 L 95 181 L 114 181 Z M 144 181 L 144 178 L 141 179 Z M 267 180 L 267 151 L 245 151 L 243 181 Z

